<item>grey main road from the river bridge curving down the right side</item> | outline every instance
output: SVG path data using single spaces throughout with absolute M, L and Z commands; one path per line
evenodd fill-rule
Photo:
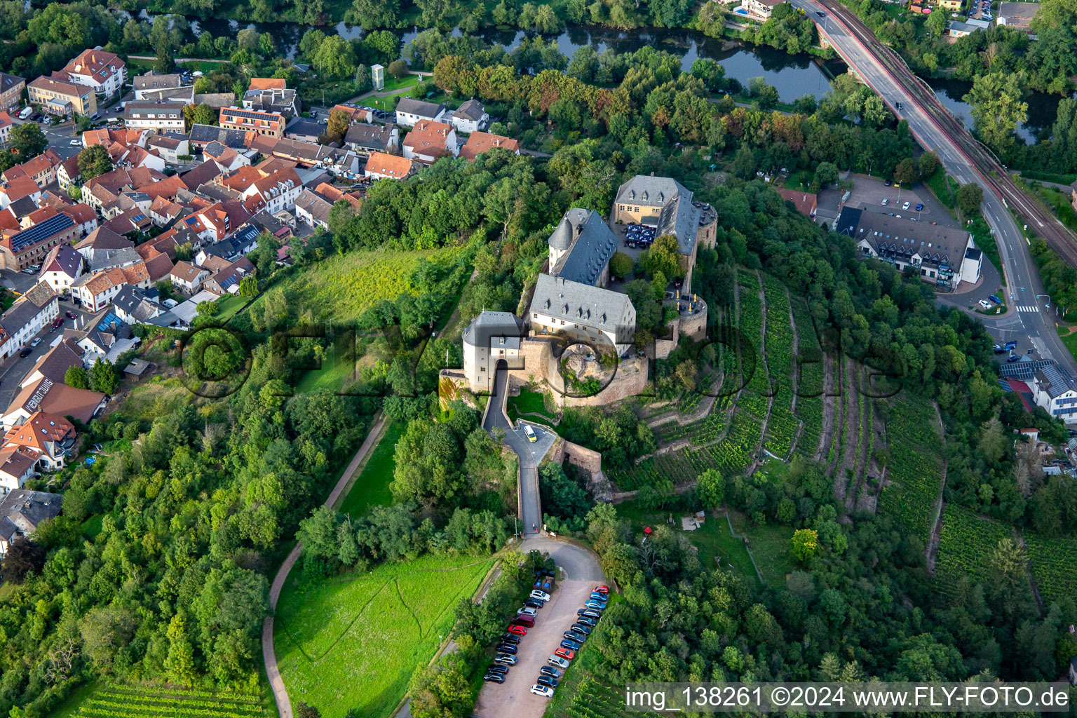
M 830 0 L 823 3 L 815 0 L 792 0 L 792 2 L 819 25 L 820 30 L 830 40 L 845 62 L 883 98 L 897 116 L 908 121 L 909 128 L 920 144 L 934 151 L 952 177 L 962 183 L 976 182 L 983 188 L 981 211 L 995 231 L 1003 271 L 1007 280 L 1008 304 L 1011 307 L 1038 309 L 1011 312 L 1001 320 L 981 318 L 984 325 L 996 337 L 1008 334 L 1010 337 L 1026 338 L 1029 346 L 1035 348 L 1040 356 L 1054 360 L 1077 376 L 1077 361 L 1058 336 L 1054 327 L 1054 307 L 1047 306 L 1048 297 L 1044 293 L 1029 245 L 1004 203 L 1002 195 L 976 169 L 973 160 L 957 142 L 942 130 L 932 114 L 921 107 L 883 66 L 875 52 L 884 51 L 872 52 L 873 45 L 872 50 L 869 50 L 869 44 L 877 42 L 873 37 L 866 36 L 863 28 L 847 25 L 835 17 L 835 8 L 831 6 Z M 819 12 L 825 12 L 826 16 L 820 17 L 816 14 Z M 897 103 L 901 104 L 900 110 L 896 109 Z

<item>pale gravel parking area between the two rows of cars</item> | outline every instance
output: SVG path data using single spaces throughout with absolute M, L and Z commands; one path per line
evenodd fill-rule
M 480 718 L 542 718 L 549 699 L 531 693 L 538 670 L 549 665 L 563 639 L 563 633 L 576 621 L 576 610 L 583 607 L 597 581 L 568 579 L 556 585 L 549 602 L 538 609 L 535 625 L 520 638 L 516 658 L 503 684 L 484 684 L 475 709 Z M 558 668 L 559 672 L 560 668 Z M 563 672 L 561 672 L 563 673 Z

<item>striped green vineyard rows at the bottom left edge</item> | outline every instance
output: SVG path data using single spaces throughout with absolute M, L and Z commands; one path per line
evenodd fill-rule
M 71 718 L 264 718 L 258 695 L 112 685 L 79 703 Z M 66 717 L 65 717 L 66 718 Z

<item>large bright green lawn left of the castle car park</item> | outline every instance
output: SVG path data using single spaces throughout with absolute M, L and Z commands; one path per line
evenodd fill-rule
M 342 718 L 388 718 L 416 666 L 433 658 L 452 609 L 474 594 L 492 558 L 428 555 L 364 575 L 300 587 L 294 572 L 276 614 L 275 642 L 292 701 Z

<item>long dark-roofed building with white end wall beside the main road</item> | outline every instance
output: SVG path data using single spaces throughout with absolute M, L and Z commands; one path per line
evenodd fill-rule
M 964 229 L 845 207 L 835 230 L 852 237 L 862 256 L 892 264 L 901 272 L 919 272 L 920 279 L 939 288 L 953 290 L 980 278 L 983 253 Z

